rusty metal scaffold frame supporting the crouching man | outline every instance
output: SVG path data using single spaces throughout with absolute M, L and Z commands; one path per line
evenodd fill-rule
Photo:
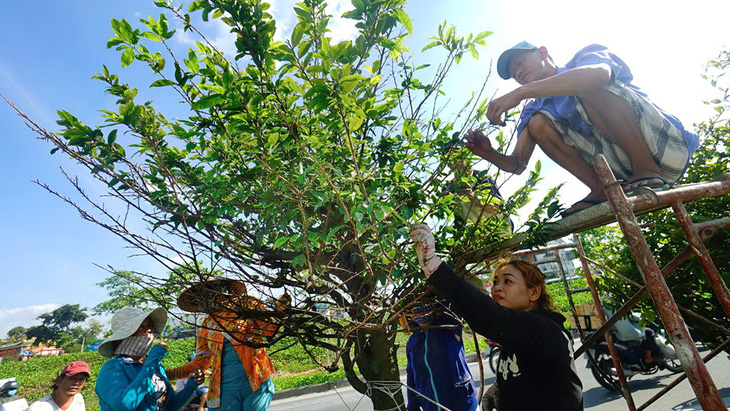
M 635 194 L 627 197 L 621 188 L 620 182 L 616 180 L 605 158 L 599 155 L 594 159 L 596 171 L 604 184 L 604 191 L 608 197 L 608 201 L 603 204 L 591 207 L 590 209 L 576 213 L 569 217 L 558 221 L 551 227 L 553 229 L 552 238 L 561 238 L 566 235 L 573 235 L 573 243 L 562 244 L 542 248 L 540 250 L 519 251 L 512 254 L 513 256 L 523 256 L 533 253 L 556 252 L 561 248 L 575 248 L 581 261 L 583 272 L 585 274 L 588 288 L 581 290 L 571 290 L 560 259 L 558 258 L 558 267 L 566 292 L 571 310 L 580 333 L 582 345 L 576 350 L 575 358 L 582 355 L 588 347 L 593 346 L 602 336 L 608 342 L 609 350 L 613 358 L 614 366 L 618 379 L 621 383 L 619 391 L 627 402 L 628 408 L 632 411 L 646 409 L 649 405 L 659 399 L 666 392 L 674 388 L 685 378 L 689 379 L 690 385 L 695 392 L 697 401 L 704 410 L 724 410 L 725 403 L 709 374 L 705 362 L 714 358 L 718 353 L 730 345 L 730 330 L 720 324 L 712 322 L 697 313 L 680 307 L 674 300 L 669 287 L 665 281 L 665 276 L 670 275 L 676 268 L 680 267 L 691 257 L 695 257 L 699 262 L 702 270 L 708 278 L 713 292 L 725 312 L 730 318 L 730 292 L 723 281 L 720 272 L 715 266 L 712 257 L 707 252 L 704 242 L 712 237 L 719 229 L 730 227 L 730 218 L 723 218 L 703 223 L 694 223 L 690 218 L 684 204 L 701 198 L 718 197 L 730 192 L 730 180 L 725 177 L 723 180 L 704 182 L 696 184 L 688 184 L 675 187 L 671 190 L 655 192 L 651 189 L 640 188 Z M 646 239 L 642 233 L 636 216 L 660 209 L 671 208 L 676 215 L 677 221 L 684 231 L 687 239 L 687 247 L 677 254 L 664 268 L 660 268 L 649 248 Z M 626 239 L 631 250 L 634 261 L 639 268 L 644 284 L 638 284 L 618 273 L 611 271 L 609 268 L 602 266 L 599 262 L 593 261 L 585 256 L 583 248 L 577 233 L 588 230 L 590 228 L 606 225 L 612 222 L 618 222 L 619 227 Z M 488 250 L 480 250 L 470 256 L 474 260 L 491 260 L 498 256 L 504 256 L 505 252 L 514 251 L 524 240 L 524 236 L 515 236 L 514 238 L 500 244 L 497 247 Z M 621 278 L 628 284 L 636 287 L 638 291 L 627 301 L 610 318 L 606 318 L 601 307 L 601 301 L 596 293 L 593 283 L 593 276 L 590 271 L 590 265 L 595 265 L 603 270 L 611 272 L 612 275 Z M 596 307 L 596 315 L 598 316 L 601 327 L 594 333 L 588 335 L 580 330 L 580 322 L 573 303 L 572 294 L 575 292 L 590 291 L 593 302 Z M 640 406 L 634 404 L 633 397 L 626 383 L 626 377 L 620 366 L 620 361 L 616 349 L 611 338 L 611 327 L 636 304 L 649 294 L 654 302 L 659 318 L 661 319 L 667 331 L 667 335 L 674 346 L 677 356 L 684 369 L 684 374 L 677 377 L 667 387 L 650 398 L 647 402 Z M 724 342 L 712 350 L 705 358 L 700 357 L 695 342 L 689 333 L 684 322 L 682 314 L 702 321 L 724 334 Z M 593 359 L 589 360 L 593 362 Z M 593 364 L 595 366 L 595 364 Z

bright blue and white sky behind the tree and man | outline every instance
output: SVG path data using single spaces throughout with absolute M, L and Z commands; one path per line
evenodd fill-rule
M 288 34 L 292 1 L 273 1 L 280 32 Z M 344 10 L 347 2 L 335 3 Z M 668 4 L 679 3 L 676 6 Z M 730 40 L 730 2 L 726 0 L 665 2 L 585 0 L 519 2 L 484 0 L 413 0 L 407 6 L 414 23 L 412 51 L 420 54 L 426 38 L 447 20 L 461 34 L 483 30 L 495 34 L 481 50 L 479 61 L 457 66 L 448 81 L 449 98 L 456 105 L 478 86 L 492 59 L 520 40 L 545 45 L 556 62 L 564 63 L 580 47 L 602 43 L 611 47 L 632 68 L 635 84 L 662 108 L 691 127 L 709 116 L 702 100 L 713 96 L 700 78 L 703 64 Z M 106 49 L 112 36 L 110 20 L 159 15 L 152 0 L 3 0 L 0 12 L 0 92 L 49 131 L 56 131 L 56 110 L 65 109 L 87 124 L 101 123 L 98 110 L 112 101 L 92 75 L 103 64 L 124 81 L 143 88 L 141 65 L 119 69 L 119 55 Z M 171 23 L 176 26 L 177 23 Z M 211 38 L 230 49 L 224 30 L 209 27 Z M 346 38 L 351 28 L 338 25 L 333 35 Z M 177 43 L 176 47 L 185 47 Z M 429 55 L 419 56 L 426 62 Z M 136 67 L 134 67 L 136 66 Z M 492 91 L 506 92 L 513 82 L 492 82 Z M 149 90 L 141 90 L 154 98 Z M 175 102 L 159 106 L 174 110 Z M 92 307 L 105 291 L 94 283 L 109 275 L 99 266 L 151 274 L 165 270 L 132 250 L 112 234 L 83 221 L 78 213 L 38 185 L 40 180 L 62 194 L 73 189 L 60 174 L 64 167 L 82 181 L 88 177 L 34 134 L 4 102 L 0 103 L 0 337 L 16 325 L 29 326 L 39 314 L 62 304 Z M 542 157 L 535 156 L 535 159 Z M 543 162 L 545 160 L 543 159 Z M 565 203 L 587 191 L 547 162 L 551 183 L 568 181 Z M 91 186 L 92 192 L 98 187 Z

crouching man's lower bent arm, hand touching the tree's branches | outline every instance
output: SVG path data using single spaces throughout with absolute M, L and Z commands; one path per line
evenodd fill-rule
M 536 144 L 527 127 L 522 129 L 520 135 L 517 136 L 517 144 L 510 154 L 502 154 L 495 150 L 489 138 L 481 131 L 469 130 L 464 138 L 466 148 L 472 153 L 499 167 L 500 170 L 514 174 L 521 174 L 525 171 Z

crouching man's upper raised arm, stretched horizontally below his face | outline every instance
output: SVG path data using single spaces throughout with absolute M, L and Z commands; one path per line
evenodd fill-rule
M 606 63 L 574 67 L 560 74 L 527 83 L 489 102 L 487 118 L 502 123 L 502 114 L 517 107 L 522 100 L 552 96 L 575 96 L 596 90 L 611 81 L 611 67 Z

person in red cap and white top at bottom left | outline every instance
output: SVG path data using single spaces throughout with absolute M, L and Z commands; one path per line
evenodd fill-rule
M 91 376 L 89 364 L 74 361 L 67 365 L 53 383 L 51 395 L 31 404 L 28 411 L 85 411 L 86 404 L 81 389 Z

